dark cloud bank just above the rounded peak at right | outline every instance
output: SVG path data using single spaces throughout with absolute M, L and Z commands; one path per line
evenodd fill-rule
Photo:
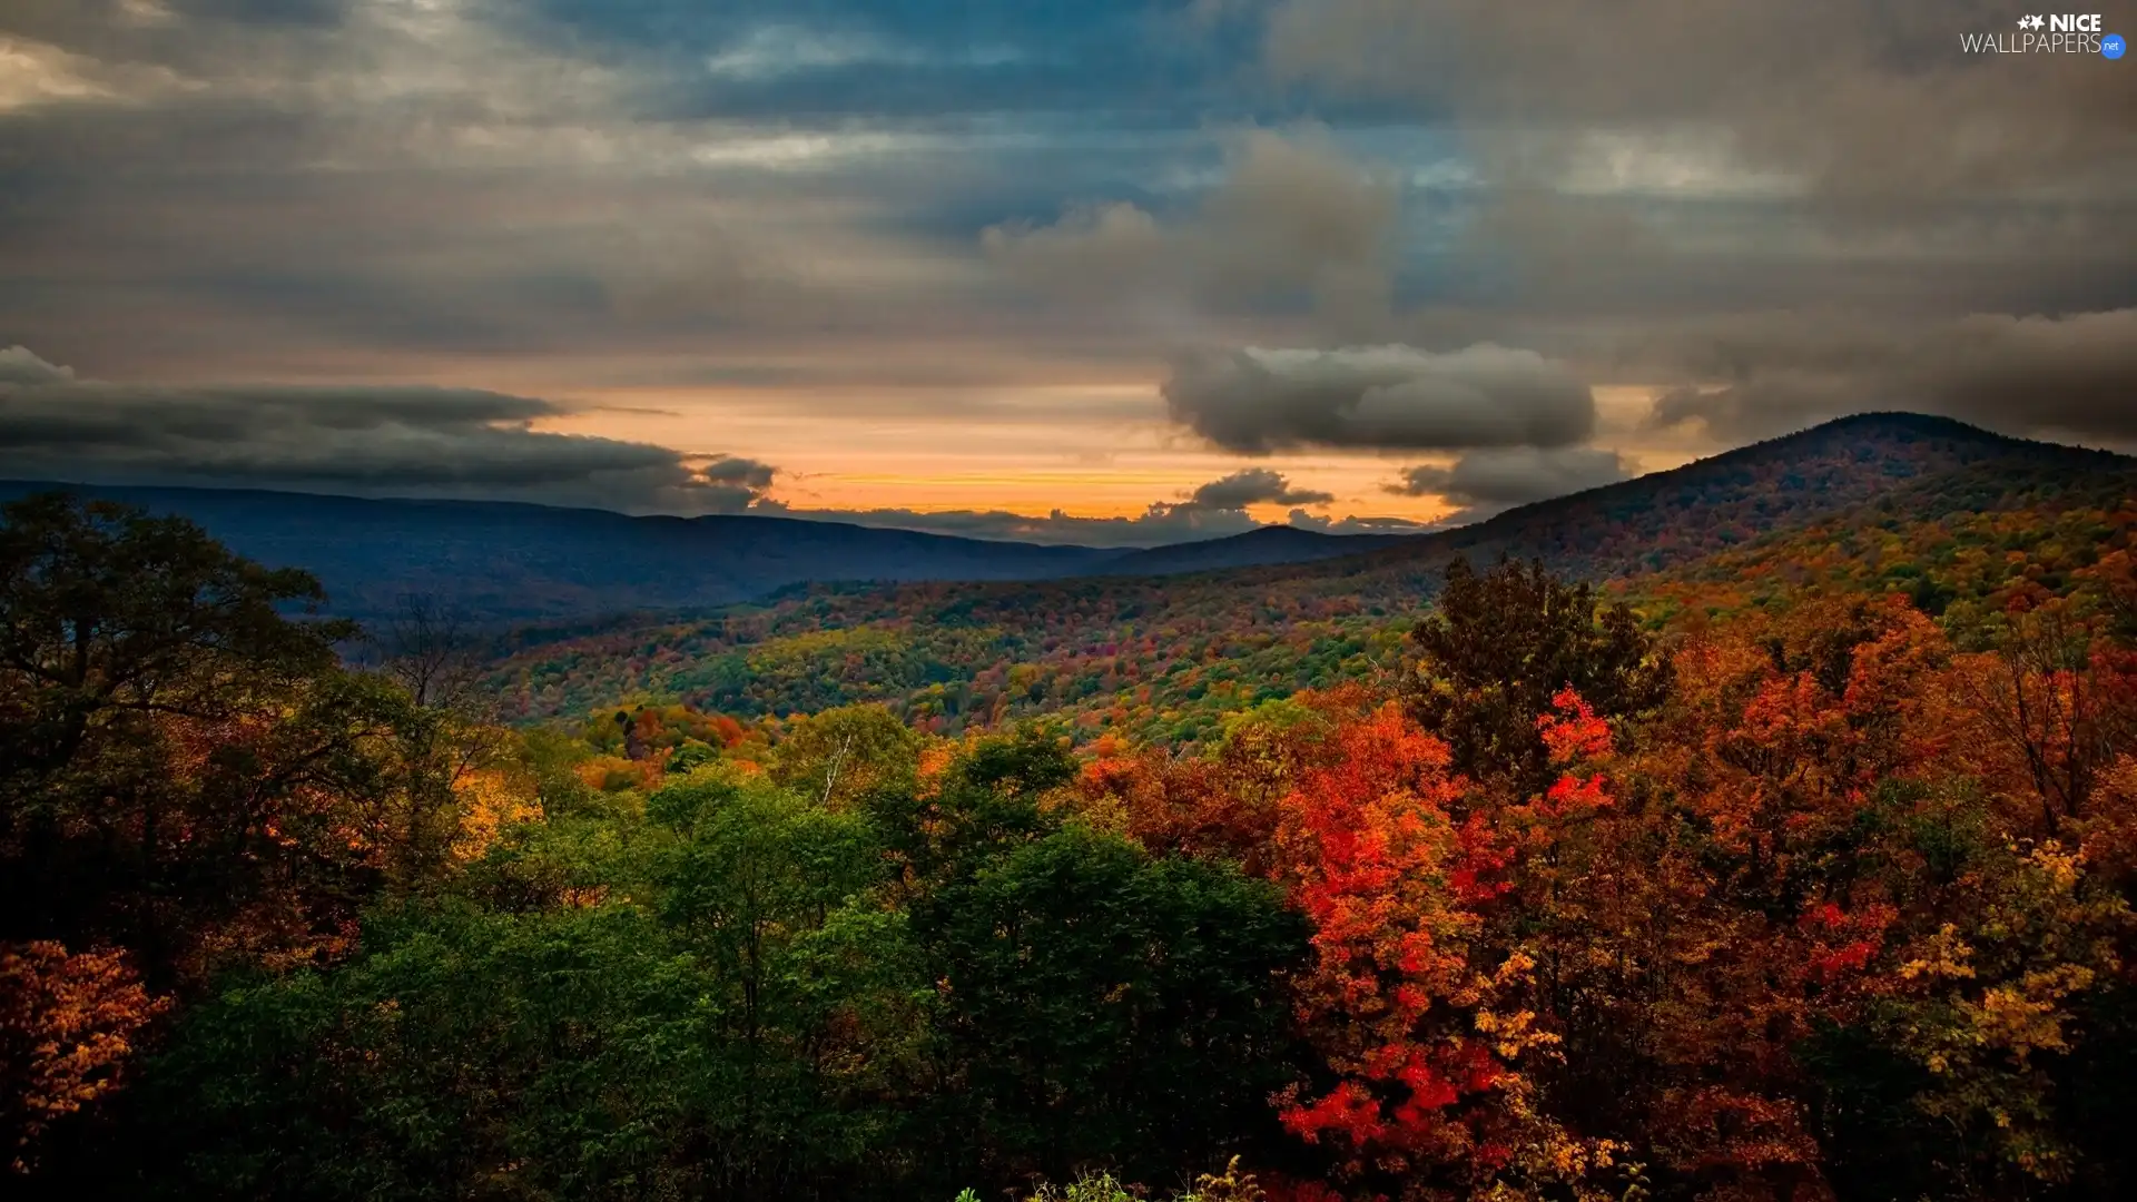
M 1943 413 L 2013 434 L 2137 443 L 2137 308 L 1876 323 L 1797 314 L 1688 325 L 1633 351 L 1690 376 L 1656 398 L 1656 428 L 1722 441 L 1844 413 Z

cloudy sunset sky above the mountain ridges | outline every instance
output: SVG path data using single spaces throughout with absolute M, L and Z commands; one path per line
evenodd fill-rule
M 2137 64 L 2026 13 L 0 0 L 0 475 L 1150 545 L 2133 449 Z

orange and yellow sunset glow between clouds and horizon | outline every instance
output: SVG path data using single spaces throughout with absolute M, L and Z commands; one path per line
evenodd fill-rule
M 1167 421 L 1154 385 L 833 389 L 844 411 L 838 417 L 804 413 L 791 396 L 765 387 L 605 389 L 581 396 L 581 411 L 539 426 L 658 443 L 686 451 L 690 462 L 761 460 L 778 468 L 767 496 L 793 509 L 1137 518 L 1156 503 L 1186 500 L 1195 488 L 1229 473 L 1272 468 L 1297 490 L 1333 494 L 1333 503 L 1299 507 L 1319 518 L 1434 522 L 1460 511 L 1438 496 L 1387 492 L 1404 466 L 1449 464 L 1455 456 L 1235 456 Z M 812 391 L 812 400 L 823 396 Z M 1616 445 L 1639 471 L 1697 456 L 1695 441 L 1682 432 L 1643 426 L 1652 396 L 1648 387 L 1596 389 L 1598 441 Z M 1092 413 L 1081 413 L 1079 400 L 1090 400 Z M 1291 509 L 1257 505 L 1250 513 L 1282 522 Z

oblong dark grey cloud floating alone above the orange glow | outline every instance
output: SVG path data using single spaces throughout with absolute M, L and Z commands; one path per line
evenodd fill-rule
M 1165 381 L 1175 421 L 1248 456 L 1291 447 L 1564 447 L 1594 432 L 1594 394 L 1534 351 L 1477 344 L 1182 355 Z

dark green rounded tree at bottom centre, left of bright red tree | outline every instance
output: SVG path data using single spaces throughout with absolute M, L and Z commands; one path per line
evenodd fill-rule
M 1214 1168 L 1295 1072 L 1278 986 L 1304 922 L 1237 868 L 1073 823 L 921 903 L 915 935 L 968 1091 L 951 1129 L 998 1176 Z

